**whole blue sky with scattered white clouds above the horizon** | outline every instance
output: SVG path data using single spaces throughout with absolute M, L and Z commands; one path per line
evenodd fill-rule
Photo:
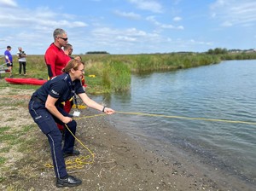
M 55 28 L 73 54 L 256 48 L 255 0 L 0 0 L 0 48 L 44 55 Z

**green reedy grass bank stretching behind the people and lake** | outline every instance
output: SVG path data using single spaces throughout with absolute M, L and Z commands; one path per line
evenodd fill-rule
M 256 53 L 195 54 L 171 53 L 151 55 L 81 55 L 85 66 L 87 92 L 91 94 L 129 90 L 131 73 L 171 71 L 217 64 L 224 60 L 256 59 Z M 15 73 L 18 61 L 15 56 Z M 44 55 L 27 57 L 26 78 L 47 78 Z M 15 76 L 16 77 L 16 76 Z M 20 77 L 20 76 L 19 76 Z

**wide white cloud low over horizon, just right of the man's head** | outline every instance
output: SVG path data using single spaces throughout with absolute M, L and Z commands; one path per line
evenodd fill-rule
M 150 51 L 150 44 L 154 44 L 155 49 L 156 44 L 160 42 L 160 36 L 156 33 L 145 32 L 134 27 L 126 29 L 102 27 L 92 30 L 85 41 L 90 44 L 87 48 L 90 50 L 104 48 L 111 54 L 118 52 L 127 54 L 144 51 L 145 49 Z M 163 40 L 161 42 L 164 43 Z

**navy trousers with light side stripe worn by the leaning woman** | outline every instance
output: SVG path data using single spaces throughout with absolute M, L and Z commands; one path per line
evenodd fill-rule
M 63 153 L 73 152 L 75 141 L 73 135 L 75 135 L 76 132 L 76 121 L 72 120 L 72 122 L 67 124 L 67 127 L 72 131 L 73 135 L 69 132 L 69 130 L 65 130 L 64 146 L 61 149 L 62 135 L 56 123 L 64 125 L 63 122 L 49 113 L 43 102 L 31 100 L 29 101 L 28 107 L 32 119 L 38 124 L 38 127 L 48 138 L 56 177 L 60 178 L 67 176 Z M 62 115 L 71 117 L 71 115 L 66 113 L 61 107 L 57 107 L 57 109 Z

